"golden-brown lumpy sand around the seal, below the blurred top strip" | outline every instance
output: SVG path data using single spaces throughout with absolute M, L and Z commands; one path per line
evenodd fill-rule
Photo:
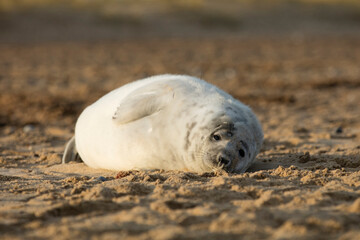
M 360 239 L 360 37 L 0 45 L 1 239 Z M 202 77 L 265 132 L 243 174 L 61 165 L 82 109 L 124 83 Z

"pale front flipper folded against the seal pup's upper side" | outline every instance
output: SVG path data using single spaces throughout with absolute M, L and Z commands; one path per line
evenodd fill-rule
M 120 103 L 113 119 L 118 124 L 125 124 L 150 116 L 165 108 L 174 95 L 173 88 L 165 83 L 141 87 Z

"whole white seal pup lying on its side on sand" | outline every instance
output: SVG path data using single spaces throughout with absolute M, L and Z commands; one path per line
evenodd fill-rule
M 124 85 L 87 107 L 63 163 L 90 167 L 244 172 L 263 141 L 251 109 L 201 79 L 159 75 Z

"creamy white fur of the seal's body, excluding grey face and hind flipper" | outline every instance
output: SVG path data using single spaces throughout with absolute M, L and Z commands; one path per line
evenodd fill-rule
M 185 140 L 195 139 L 201 125 L 223 111 L 224 104 L 242 109 L 254 125 L 251 141 L 258 153 L 263 136 L 251 110 L 217 87 L 183 75 L 138 80 L 88 106 L 76 123 L 76 148 L 82 160 L 94 168 L 208 171 L 209 166 L 190 157 L 196 154 L 197 145 L 185 150 Z M 194 130 L 186 136 L 191 122 Z

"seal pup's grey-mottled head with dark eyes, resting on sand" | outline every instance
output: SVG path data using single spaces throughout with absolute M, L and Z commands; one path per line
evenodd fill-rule
M 253 163 L 259 153 L 263 133 L 252 112 L 241 118 L 223 115 L 214 121 L 203 136 L 200 158 L 211 170 L 241 173 Z

